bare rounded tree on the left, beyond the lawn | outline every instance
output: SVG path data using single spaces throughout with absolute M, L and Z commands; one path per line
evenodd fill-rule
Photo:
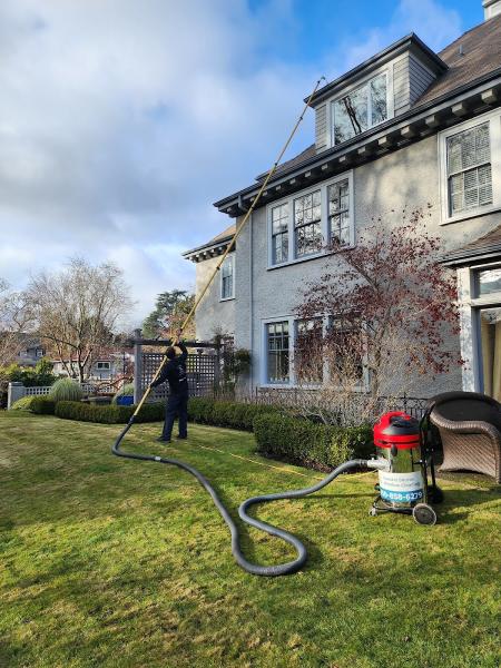
M 86 380 L 92 361 L 112 344 L 114 330 L 132 306 L 129 292 L 116 265 L 92 266 L 78 257 L 58 273 L 31 278 L 26 294 L 38 334 L 70 377 Z

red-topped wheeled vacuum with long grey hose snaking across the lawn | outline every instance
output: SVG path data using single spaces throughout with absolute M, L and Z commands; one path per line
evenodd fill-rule
M 435 494 L 433 500 L 438 499 L 439 490 L 434 482 L 433 461 L 426 450 L 428 439 L 425 436 L 425 430 L 422 429 L 425 424 L 426 415 L 423 418 L 420 425 L 416 420 L 405 415 L 405 413 L 386 413 L 380 419 L 374 430 L 377 456 L 370 460 L 356 459 L 344 462 L 317 484 L 310 488 L 253 497 L 240 504 L 238 515 L 244 522 L 261 531 L 265 531 L 269 536 L 285 540 L 297 553 L 295 559 L 287 561 L 286 563 L 275 566 L 259 566 L 253 563 L 248 561 L 242 552 L 236 522 L 205 475 L 194 466 L 179 460 L 150 454 L 124 452 L 120 449 L 121 441 L 132 426 L 135 419 L 136 415 L 132 415 L 118 435 L 112 446 L 112 453 L 126 459 L 174 465 L 196 478 L 202 487 L 208 492 L 215 507 L 228 525 L 232 534 L 232 553 L 235 561 L 245 571 L 252 574 L 276 577 L 294 573 L 301 570 L 305 564 L 307 552 L 298 538 L 284 529 L 279 529 L 278 527 L 274 527 L 273 524 L 268 524 L 267 522 L 250 517 L 248 510 L 258 503 L 278 501 L 279 499 L 302 499 L 308 497 L 333 482 L 342 473 L 361 469 L 379 471 L 380 495 L 371 509 L 371 514 L 377 514 L 379 512 L 412 513 L 420 524 L 434 524 L 436 521 L 436 514 L 430 505 L 430 502 L 432 501 L 433 490 Z M 430 487 L 428 484 L 429 469 L 432 472 L 432 485 Z

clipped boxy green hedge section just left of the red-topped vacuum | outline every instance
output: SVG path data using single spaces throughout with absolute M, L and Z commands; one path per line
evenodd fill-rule
M 278 460 L 313 468 L 332 469 L 373 451 L 372 428 L 326 426 L 282 414 L 254 419 L 257 451 Z

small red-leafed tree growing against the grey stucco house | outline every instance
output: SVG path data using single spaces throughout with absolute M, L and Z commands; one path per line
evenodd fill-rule
M 459 333 L 455 277 L 439 262 L 440 239 L 426 232 L 429 209 L 403 210 L 396 225 L 373 220 L 354 247 L 335 244 L 336 267 L 307 284 L 297 315 L 330 317 L 322 354 L 331 384 L 351 373 L 360 386 L 365 373 L 373 399 L 395 396 L 416 374 L 431 380 L 461 364 L 448 345 Z

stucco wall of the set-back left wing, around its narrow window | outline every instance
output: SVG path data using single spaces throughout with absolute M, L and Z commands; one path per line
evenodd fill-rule
M 196 266 L 196 294 L 200 294 L 220 257 L 202 261 Z M 235 276 L 238 277 L 237 262 L 234 264 Z M 236 294 L 238 294 L 236 292 Z M 212 341 L 216 334 L 234 336 L 235 299 L 220 301 L 220 275 L 218 274 L 202 299 L 195 324 L 199 341 Z

